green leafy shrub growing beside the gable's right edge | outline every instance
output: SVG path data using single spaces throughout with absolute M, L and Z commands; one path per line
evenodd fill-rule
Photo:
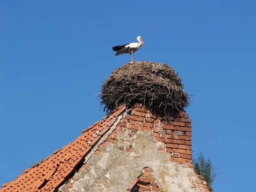
M 193 166 L 199 175 L 202 175 L 207 182 L 208 186 L 211 186 L 213 180 L 221 174 L 220 166 L 215 167 L 212 165 L 212 160 L 207 157 L 204 158 L 202 152 L 198 153 L 196 159 L 193 158 Z

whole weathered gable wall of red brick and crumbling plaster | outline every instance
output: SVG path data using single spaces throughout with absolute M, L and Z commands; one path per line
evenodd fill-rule
M 120 120 L 121 122 L 113 129 L 106 140 L 95 149 L 94 154 L 88 160 L 89 164 L 88 162 L 85 163 L 79 172 L 61 187 L 60 191 L 79 192 L 81 188 L 84 188 L 83 191 L 85 192 L 98 191 L 98 189 L 102 192 L 117 192 L 116 189 L 119 192 L 122 189 L 125 192 L 127 188 L 124 190 L 123 187 L 130 186 L 133 183 L 131 179 L 135 178 L 134 174 L 136 175 L 136 172 L 138 172 L 137 170 L 134 173 L 133 165 L 141 164 L 138 165 L 138 169 L 142 165 L 150 165 L 148 167 L 151 169 L 144 167 L 143 173 L 138 177 L 137 188 L 128 188 L 127 192 L 129 190 L 131 192 L 179 192 L 184 190 L 187 192 L 212 192 L 211 188 L 208 189 L 204 177 L 198 175 L 193 169 L 192 130 L 188 114 L 181 113 L 178 119 L 171 119 L 170 122 L 167 119 L 154 116 L 148 109 L 139 104 Z M 140 143 L 140 146 L 138 143 Z M 148 151 L 149 149 L 152 151 Z M 94 162 L 101 161 L 106 153 L 108 154 L 108 159 L 106 159 L 108 165 L 104 168 L 101 168 L 101 165 L 99 167 L 99 163 L 94 165 Z M 112 159 L 110 158 L 111 153 L 115 156 L 111 157 Z M 152 156 L 149 157 L 150 155 Z M 137 159 L 134 159 L 134 157 L 137 157 Z M 169 162 L 175 163 L 175 166 L 166 162 L 166 157 Z M 145 163 L 143 163 L 143 158 Z M 166 166 L 169 167 L 168 172 Z M 97 171 L 98 169 L 100 171 Z M 125 173 L 122 170 L 125 170 Z M 176 172 L 176 170 L 178 171 Z M 111 175 L 111 171 L 120 177 L 119 181 L 108 176 Z M 152 175 L 153 171 L 157 177 Z M 100 172 L 104 172 L 105 176 Z M 122 174 L 128 174 L 130 177 L 126 177 L 123 181 Z M 110 182 L 112 184 L 108 183 L 105 177 L 111 178 Z M 128 183 L 123 184 L 126 180 Z M 157 180 L 158 182 L 156 182 Z M 120 182 L 120 186 L 117 186 L 116 182 Z M 90 190 L 93 183 L 97 187 Z M 115 185 L 117 188 L 112 190 L 111 185 Z M 173 189 L 166 189 L 166 186 L 172 185 Z

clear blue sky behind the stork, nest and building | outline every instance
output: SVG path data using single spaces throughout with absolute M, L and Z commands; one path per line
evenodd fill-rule
M 222 174 L 216 192 L 254 183 L 256 2 L 1 1 L 0 184 L 75 140 L 104 116 L 99 93 L 134 61 L 169 64 L 193 95 L 192 150 Z

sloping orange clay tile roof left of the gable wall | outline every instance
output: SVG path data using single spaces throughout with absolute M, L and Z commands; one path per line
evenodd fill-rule
M 88 129 L 82 131 L 73 143 L 54 151 L 51 156 L 32 168 L 25 169 L 23 174 L 12 182 L 2 185 L 0 192 L 53 192 L 76 170 L 76 166 L 84 160 L 92 146 L 99 141 L 102 135 L 108 131 L 118 116 L 125 110 L 120 106 L 111 113 L 108 118 L 94 123 Z

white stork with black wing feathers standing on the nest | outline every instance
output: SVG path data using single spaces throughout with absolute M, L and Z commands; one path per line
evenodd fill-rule
M 134 52 L 139 50 L 142 44 L 144 44 L 140 36 L 137 37 L 137 40 L 139 41 L 139 43 L 131 43 L 131 44 L 118 45 L 118 46 L 112 47 L 113 51 L 116 51 L 115 55 L 129 53 L 131 55 L 131 62 L 133 62 Z

